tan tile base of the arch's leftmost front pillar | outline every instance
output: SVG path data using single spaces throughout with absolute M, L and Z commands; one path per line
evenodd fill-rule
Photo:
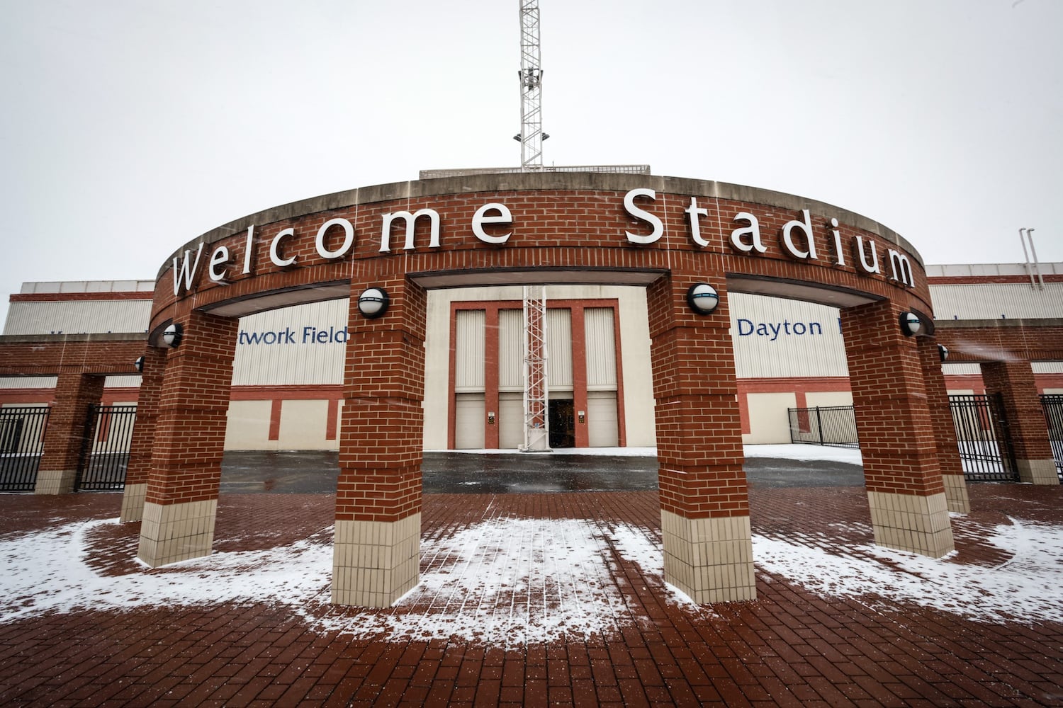
M 184 504 L 146 502 L 137 557 L 152 568 L 210 555 L 218 500 Z

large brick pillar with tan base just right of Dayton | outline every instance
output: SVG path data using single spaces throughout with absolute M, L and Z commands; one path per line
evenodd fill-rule
M 916 338 L 890 300 L 842 310 L 875 542 L 941 557 L 954 550 Z

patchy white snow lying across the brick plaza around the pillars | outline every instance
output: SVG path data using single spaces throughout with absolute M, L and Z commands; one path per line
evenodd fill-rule
M 332 534 L 266 551 L 219 552 L 164 569 L 103 576 L 87 563 L 90 520 L 0 539 L 0 622 L 46 612 L 158 605 L 268 602 L 320 631 L 422 639 L 457 637 L 503 645 L 610 635 L 647 620 L 624 588 L 640 567 L 647 584 L 686 611 L 709 612 L 665 589 L 655 532 L 579 519 L 491 519 L 422 542 L 421 584 L 386 610 L 328 604 Z M 803 542 L 803 540 L 805 542 Z M 1063 622 L 1063 528 L 1011 520 L 985 542 L 1006 552 L 996 567 L 860 547 L 838 555 L 823 538 L 754 535 L 761 571 L 822 597 L 883 607 L 912 603 L 962 617 Z M 770 579 L 761 575 L 761 582 Z

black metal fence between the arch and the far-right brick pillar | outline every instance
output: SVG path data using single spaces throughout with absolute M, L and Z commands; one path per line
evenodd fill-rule
M 964 478 L 968 482 L 1017 482 L 1018 469 L 1000 395 L 954 395 L 948 397 L 948 408 Z

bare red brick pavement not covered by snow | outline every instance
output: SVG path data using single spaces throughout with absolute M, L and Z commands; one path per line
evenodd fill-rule
M 1063 524 L 1063 489 L 980 485 L 946 563 L 1007 554 L 979 530 L 1008 517 Z M 864 490 L 750 491 L 755 533 L 871 542 Z M 120 497 L 0 496 L 0 538 L 116 517 Z M 268 549 L 332 521 L 333 498 L 223 496 L 216 550 Z M 626 522 L 659 534 L 655 493 L 427 496 L 423 535 L 486 517 Z M 91 567 L 147 572 L 138 524 L 99 528 Z M 422 562 L 422 569 L 428 560 Z M 289 606 L 223 603 L 0 619 L 0 703 L 145 705 L 1063 705 L 1063 625 L 985 622 L 908 604 L 824 598 L 758 569 L 758 600 L 712 611 L 677 604 L 661 579 L 617 557 L 631 621 L 608 636 L 517 647 L 322 629 Z M 1063 594 L 1063 593 L 1061 593 Z M 340 616 L 388 612 L 337 608 Z

